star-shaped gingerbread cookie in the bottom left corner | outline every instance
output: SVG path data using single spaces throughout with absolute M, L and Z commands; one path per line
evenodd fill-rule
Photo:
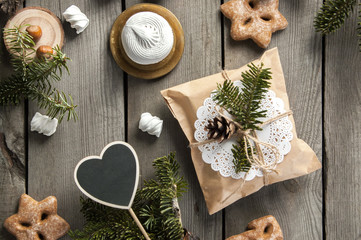
M 57 214 L 55 197 L 37 202 L 26 194 L 21 195 L 18 213 L 7 218 L 4 227 L 18 240 L 56 240 L 70 229 Z

